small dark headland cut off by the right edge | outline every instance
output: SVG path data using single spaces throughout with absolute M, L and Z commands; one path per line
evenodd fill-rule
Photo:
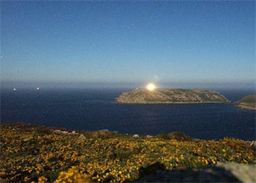
M 236 106 L 245 110 L 256 110 L 256 95 L 247 95 L 237 101 Z

